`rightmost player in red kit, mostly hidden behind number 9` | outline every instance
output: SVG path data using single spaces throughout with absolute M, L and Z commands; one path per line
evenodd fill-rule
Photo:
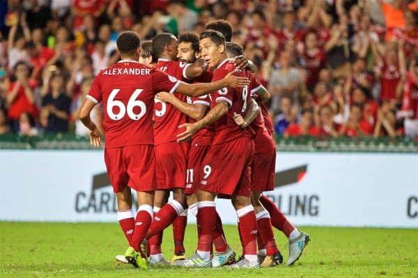
M 242 47 L 235 43 L 227 43 L 226 49 L 230 56 L 242 54 Z M 275 227 L 283 231 L 289 238 L 289 258 L 286 264 L 292 265 L 302 255 L 303 249 L 310 239 L 307 233 L 295 229 L 279 208 L 270 199 L 262 195 L 265 191 L 274 190 L 276 144 L 272 137 L 272 131 L 268 128 L 272 127 L 272 124 L 265 106 L 265 102 L 270 99 L 270 93 L 256 78 L 253 77 L 250 81 L 251 96 L 258 99 L 261 111 L 255 121 L 251 121 L 249 115 L 245 118 L 237 115 L 234 120 L 242 128 L 250 125 L 256 133 L 254 138 L 255 152 L 251 164 L 251 202 L 257 218 L 258 257 L 262 268 L 268 268 L 283 262 L 283 256 L 281 256 L 274 240 L 270 218 L 270 213 L 272 213 L 274 223 L 281 223 L 280 226 L 275 225 Z

